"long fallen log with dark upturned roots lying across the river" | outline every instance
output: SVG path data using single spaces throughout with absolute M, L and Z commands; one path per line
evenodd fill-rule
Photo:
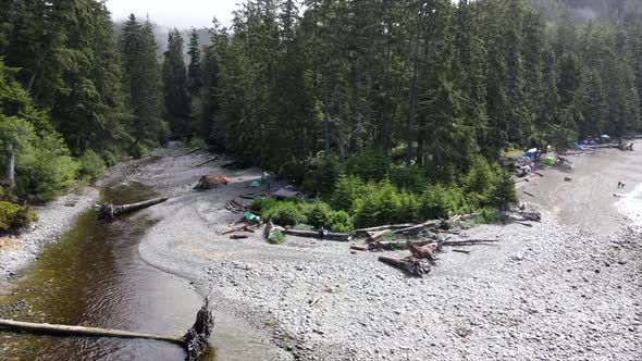
M 118 338 L 143 338 L 159 341 L 171 343 L 181 346 L 187 352 L 187 360 L 197 360 L 208 348 L 212 328 L 214 327 L 214 316 L 210 310 L 209 297 L 198 313 L 196 321 L 189 327 L 187 333 L 181 337 L 160 336 L 152 334 L 143 334 L 122 329 L 109 329 L 98 327 L 83 327 L 70 325 L 57 325 L 49 323 L 32 323 L 13 320 L 0 320 L 0 329 L 7 329 L 18 333 L 30 333 L 50 336 L 89 336 L 89 337 L 118 337 Z

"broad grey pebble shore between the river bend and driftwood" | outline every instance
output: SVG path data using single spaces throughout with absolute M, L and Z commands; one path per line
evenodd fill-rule
M 579 231 L 544 212 L 533 227 L 484 225 L 460 237 L 493 246 L 447 251 L 423 279 L 347 244 L 288 237 L 268 245 L 221 235 L 238 219 L 226 200 L 248 192 L 259 170 L 159 150 L 123 165 L 128 179 L 172 198 L 141 241 L 147 262 L 213 290 L 219 310 L 261 331 L 281 360 L 639 360 L 642 231 Z M 232 184 L 194 191 L 199 175 Z M 395 254 L 396 252 L 386 252 Z M 405 254 L 406 252 L 398 252 Z M 217 339 L 212 343 L 217 345 Z M 233 357 L 225 360 L 234 360 Z

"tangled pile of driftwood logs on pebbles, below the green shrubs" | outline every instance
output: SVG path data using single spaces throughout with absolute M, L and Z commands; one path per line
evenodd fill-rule
M 393 224 L 379 227 L 356 229 L 354 235 L 366 235 L 367 246 L 350 246 L 353 250 L 359 251 L 385 251 L 407 249 L 410 256 L 405 258 L 380 257 L 379 261 L 398 267 L 413 276 L 423 277 L 430 273 L 431 266 L 435 265 L 439 260 L 439 252 L 444 247 L 462 247 L 472 245 L 489 245 L 497 242 L 499 239 L 461 239 L 449 240 L 453 236 L 443 238 L 440 234 L 458 235 L 459 223 L 465 220 L 477 216 L 477 213 L 455 215 L 448 220 L 433 220 L 421 224 Z M 524 224 L 526 222 L 540 222 L 541 214 L 536 212 L 508 212 L 504 214 L 507 220 Z M 444 229 L 447 227 L 448 229 Z M 386 235 L 418 236 L 428 233 L 430 239 L 424 240 L 406 240 L 406 241 L 382 241 L 381 238 Z M 497 238 L 502 234 L 497 235 Z M 455 252 L 470 253 L 468 250 L 454 249 Z

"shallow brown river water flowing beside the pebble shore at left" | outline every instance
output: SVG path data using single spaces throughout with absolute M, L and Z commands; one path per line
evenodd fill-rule
M 103 201 L 157 196 L 140 184 L 106 187 Z M 0 299 L 0 318 L 183 335 L 201 297 L 188 282 L 143 262 L 138 242 L 153 220 L 145 212 L 112 222 L 87 211 L 60 242 Z M 0 332 L 0 360 L 183 360 L 184 351 L 153 340 L 49 337 Z M 213 360 L 213 351 L 202 360 Z

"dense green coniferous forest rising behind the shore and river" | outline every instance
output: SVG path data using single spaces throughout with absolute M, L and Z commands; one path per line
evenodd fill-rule
M 20 197 L 183 140 L 337 202 L 374 182 L 484 206 L 505 198 L 489 179 L 508 187 L 507 151 L 642 129 L 637 0 L 249 0 L 206 46 L 174 29 L 162 57 L 152 22 L 116 32 L 97 0 L 0 2 L 0 147 Z

